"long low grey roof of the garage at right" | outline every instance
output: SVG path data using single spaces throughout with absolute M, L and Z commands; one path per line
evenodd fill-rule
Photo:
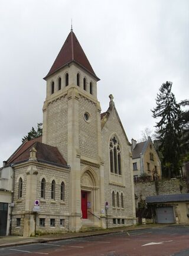
M 166 203 L 173 201 L 189 201 L 189 194 L 171 194 L 146 197 L 146 203 Z

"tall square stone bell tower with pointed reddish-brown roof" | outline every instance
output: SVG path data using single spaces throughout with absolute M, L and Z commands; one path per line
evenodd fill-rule
M 101 110 L 97 101 L 99 78 L 72 28 L 44 79 L 47 91 L 43 106 L 43 143 L 56 146 L 70 165 L 70 231 L 78 231 L 83 217 L 81 193 L 83 190 L 88 193 L 93 213 L 100 213 L 104 190 Z M 95 176 L 95 186 L 82 187 L 81 181 L 84 182 L 88 174 L 91 180 Z

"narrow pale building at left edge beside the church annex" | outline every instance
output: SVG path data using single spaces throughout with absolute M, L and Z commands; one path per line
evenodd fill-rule
M 0 236 L 9 235 L 13 179 L 11 167 L 0 168 Z

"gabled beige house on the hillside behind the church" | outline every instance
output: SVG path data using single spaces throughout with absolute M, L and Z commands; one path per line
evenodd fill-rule
M 140 143 L 132 139 L 132 164 L 134 180 L 142 176 L 148 176 L 149 180 L 154 180 L 155 177 L 161 178 L 161 162 L 151 137 Z

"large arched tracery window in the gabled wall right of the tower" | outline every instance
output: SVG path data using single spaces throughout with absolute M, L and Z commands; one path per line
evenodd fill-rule
M 110 172 L 122 175 L 121 154 L 118 139 L 113 136 L 110 139 Z

